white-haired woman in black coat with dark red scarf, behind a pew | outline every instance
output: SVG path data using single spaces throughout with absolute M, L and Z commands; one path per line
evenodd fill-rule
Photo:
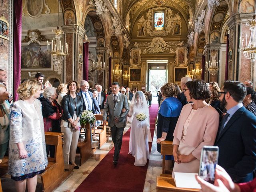
M 57 92 L 55 87 L 48 87 L 44 90 L 43 96 L 40 98 L 42 104 L 42 114 L 44 118 L 44 131 L 45 132 L 61 132 L 60 131 L 60 118 L 62 116 L 62 109 L 57 99 Z M 54 158 L 55 146 L 46 145 L 47 157 Z

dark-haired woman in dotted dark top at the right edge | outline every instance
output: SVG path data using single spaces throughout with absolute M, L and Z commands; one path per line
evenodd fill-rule
M 254 103 L 254 100 L 256 98 L 256 94 L 251 87 L 246 87 L 247 93 L 246 96 L 244 97 L 244 107 L 252 112 L 256 116 L 256 105 Z

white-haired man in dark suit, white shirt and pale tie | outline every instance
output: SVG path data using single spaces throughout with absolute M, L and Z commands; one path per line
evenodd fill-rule
M 94 114 L 101 114 L 97 100 L 92 97 L 92 92 L 88 91 L 89 83 L 82 80 L 80 82 L 80 88 L 81 91 L 78 92 L 78 95 L 83 98 L 83 110 L 90 110 Z

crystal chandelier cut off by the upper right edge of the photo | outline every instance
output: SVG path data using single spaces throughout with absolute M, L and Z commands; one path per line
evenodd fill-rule
M 247 44 L 247 34 L 246 34 L 246 44 L 243 47 L 244 39 L 242 40 L 242 51 L 244 53 L 244 57 L 246 59 L 250 59 L 251 61 L 256 60 L 256 18 L 255 15 L 253 19 L 248 19 L 246 22 L 246 26 L 250 26 L 251 36 L 250 40 Z

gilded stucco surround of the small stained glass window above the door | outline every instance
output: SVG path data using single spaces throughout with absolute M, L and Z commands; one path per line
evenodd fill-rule
M 180 23 L 181 24 L 181 17 L 179 16 L 178 13 L 173 14 L 172 9 L 170 8 L 161 8 L 165 9 L 165 14 L 166 14 L 166 22 L 165 22 L 165 28 L 164 30 L 154 30 L 152 27 L 152 22 L 153 22 L 153 13 L 155 9 L 159 8 L 153 8 L 148 10 L 146 13 L 146 19 L 142 15 L 140 19 L 138 20 L 138 25 L 144 26 L 144 29 L 150 36 L 167 36 L 170 34 L 172 30 L 174 30 L 174 23 Z M 179 28 L 179 34 L 181 32 L 181 26 Z

